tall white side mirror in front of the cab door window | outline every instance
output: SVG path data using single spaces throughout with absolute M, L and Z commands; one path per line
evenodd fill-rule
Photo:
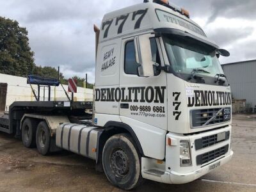
M 140 35 L 134 38 L 136 62 L 140 64 L 138 67 L 138 76 L 140 77 L 154 76 L 150 37 L 152 35 Z

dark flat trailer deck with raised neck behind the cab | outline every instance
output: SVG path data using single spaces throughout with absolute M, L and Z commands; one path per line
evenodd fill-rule
M 70 101 L 18 101 L 13 102 L 9 111 L 0 115 L 0 131 L 20 136 L 20 120 L 26 113 L 67 115 L 68 118 L 83 120 L 92 118 L 85 110 L 92 110 L 92 102 Z

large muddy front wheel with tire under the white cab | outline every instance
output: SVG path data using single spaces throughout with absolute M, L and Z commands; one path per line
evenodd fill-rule
M 102 152 L 103 169 L 109 182 L 125 190 L 134 189 L 143 182 L 140 159 L 129 134 L 111 136 Z

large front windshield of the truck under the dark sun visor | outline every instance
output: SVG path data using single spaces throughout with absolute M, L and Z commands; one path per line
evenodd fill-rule
M 216 74 L 223 74 L 214 47 L 177 35 L 163 36 L 163 40 L 175 73 L 196 72 L 202 77 L 215 77 Z

